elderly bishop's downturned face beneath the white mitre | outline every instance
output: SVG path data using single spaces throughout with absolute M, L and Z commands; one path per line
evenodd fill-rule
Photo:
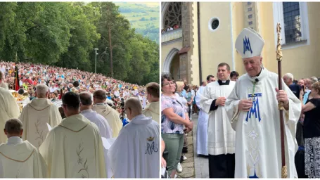
M 248 75 L 255 77 L 261 71 L 262 57 L 244 58 L 243 65 L 245 65 L 245 71 L 248 72 Z

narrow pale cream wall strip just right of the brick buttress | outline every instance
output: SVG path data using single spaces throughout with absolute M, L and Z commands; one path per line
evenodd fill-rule
M 197 2 L 193 2 L 192 7 L 193 7 L 193 52 L 191 55 L 191 70 L 192 70 L 191 84 L 200 84 Z

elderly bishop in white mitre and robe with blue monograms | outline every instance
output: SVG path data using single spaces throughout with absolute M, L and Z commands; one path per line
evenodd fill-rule
M 297 177 L 295 127 L 300 117 L 299 99 L 278 75 L 262 66 L 264 40 L 251 28 L 236 39 L 246 74 L 239 77 L 226 101 L 226 110 L 236 130 L 235 178 L 281 178 L 281 136 L 278 101 L 283 103 L 284 142 L 288 178 Z M 274 61 L 276 63 L 276 60 Z

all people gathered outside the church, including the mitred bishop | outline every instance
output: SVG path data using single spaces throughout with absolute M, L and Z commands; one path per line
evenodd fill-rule
M 243 44 L 250 39 L 250 44 Z M 250 48 L 248 48 L 250 46 Z M 162 168 L 174 178 L 182 172 L 184 134 L 193 130 L 190 110 L 198 115 L 196 153 L 209 160 L 210 178 L 319 178 L 319 78 L 294 79 L 287 73 L 278 89 L 278 75 L 262 64 L 264 39 L 245 28 L 236 39 L 245 75 L 231 72 L 227 63 L 217 77 L 207 76 L 192 86 L 162 75 Z M 182 82 L 183 83 L 183 82 Z M 283 112 L 281 140 L 280 110 Z M 281 141 L 285 142 L 281 153 Z M 281 156 L 285 156 L 283 171 Z M 162 173 L 165 174 L 165 173 Z

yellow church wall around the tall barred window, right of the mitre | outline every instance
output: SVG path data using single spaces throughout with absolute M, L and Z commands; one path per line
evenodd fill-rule
M 274 42 L 273 8 L 271 2 L 260 2 L 260 15 L 262 20 L 262 37 L 264 38 L 264 51 L 262 53 L 264 66 L 272 71 L 278 72 L 276 61 L 276 46 Z M 309 18 L 309 46 L 299 46 L 292 49 L 283 49 L 282 75 L 287 72 L 293 74 L 294 78 L 320 77 L 320 3 L 308 2 Z M 282 25 L 283 27 L 284 25 Z M 282 37 L 284 38 L 284 37 Z

